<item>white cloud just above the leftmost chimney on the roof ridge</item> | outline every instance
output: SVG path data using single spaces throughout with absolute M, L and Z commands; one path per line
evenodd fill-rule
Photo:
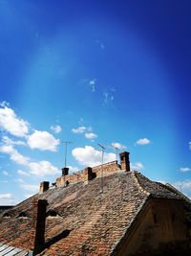
M 31 162 L 29 164 L 30 173 L 32 175 L 56 175 L 59 174 L 59 170 L 54 167 L 49 161 Z

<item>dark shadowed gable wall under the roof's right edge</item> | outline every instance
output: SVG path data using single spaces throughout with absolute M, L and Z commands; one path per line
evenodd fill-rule
M 149 199 L 115 255 L 189 255 L 183 205 L 176 199 Z

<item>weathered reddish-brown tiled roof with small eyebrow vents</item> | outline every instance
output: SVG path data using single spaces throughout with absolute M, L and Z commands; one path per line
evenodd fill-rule
M 46 221 L 46 249 L 43 255 L 110 255 L 138 216 L 146 200 L 180 196 L 165 185 L 153 182 L 138 172 L 117 172 L 89 182 L 53 188 L 36 198 L 47 199 L 57 213 Z M 29 218 L 17 218 L 20 212 Z M 0 242 L 28 247 L 32 198 L 0 215 Z

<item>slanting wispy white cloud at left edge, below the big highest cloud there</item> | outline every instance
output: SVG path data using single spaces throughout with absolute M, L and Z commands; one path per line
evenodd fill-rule
M 16 151 L 11 145 L 3 145 L 0 147 L 1 152 L 8 153 L 12 161 L 17 164 L 27 165 L 30 158 L 22 155 L 18 151 Z

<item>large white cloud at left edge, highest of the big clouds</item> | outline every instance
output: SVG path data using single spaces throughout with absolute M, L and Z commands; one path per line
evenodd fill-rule
M 18 118 L 11 107 L 4 102 L 0 107 L 0 128 L 17 137 L 25 137 L 29 132 L 28 122 Z

